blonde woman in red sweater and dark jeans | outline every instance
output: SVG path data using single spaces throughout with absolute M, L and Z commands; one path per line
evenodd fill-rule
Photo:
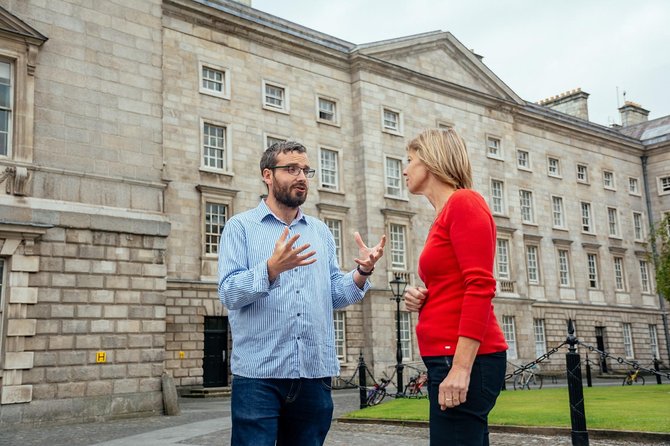
M 407 160 L 408 190 L 425 196 L 436 211 L 419 258 L 425 287 L 405 293 L 407 309 L 419 312 L 430 444 L 486 446 L 507 350 L 492 304 L 495 222 L 484 198 L 471 189 L 465 142 L 453 129 L 419 134 L 407 145 Z

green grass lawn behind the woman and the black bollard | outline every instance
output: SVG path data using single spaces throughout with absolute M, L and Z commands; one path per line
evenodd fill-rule
M 569 428 L 568 398 L 567 388 L 506 390 L 489 423 Z M 584 405 L 587 429 L 670 432 L 670 385 L 585 387 Z M 385 400 L 346 417 L 427 421 L 428 400 Z

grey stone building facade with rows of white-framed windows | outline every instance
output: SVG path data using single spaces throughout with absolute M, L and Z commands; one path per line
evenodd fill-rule
M 343 376 L 361 353 L 377 376 L 395 363 L 388 281 L 417 283 L 433 218 L 405 190 L 405 144 L 439 126 L 494 212 L 511 360 L 571 318 L 585 342 L 667 363 L 646 243 L 670 211 L 667 117 L 627 103 L 629 125 L 603 127 L 587 93 L 529 103 L 448 32 L 355 45 L 248 3 L 0 0 L 0 424 L 159 412 L 163 373 L 228 384 L 218 234 L 265 193 L 277 139 L 309 148 L 305 211 L 343 269 L 354 231 L 389 238 L 371 292 L 335 314 Z

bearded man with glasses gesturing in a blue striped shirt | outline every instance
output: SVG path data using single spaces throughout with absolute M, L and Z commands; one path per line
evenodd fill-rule
M 234 446 L 312 446 L 325 441 L 333 414 L 331 377 L 339 372 L 333 310 L 363 299 L 386 237 L 343 274 L 335 241 L 303 214 L 306 149 L 272 144 L 261 157 L 267 197 L 232 217 L 221 234 L 219 297 L 233 336 Z

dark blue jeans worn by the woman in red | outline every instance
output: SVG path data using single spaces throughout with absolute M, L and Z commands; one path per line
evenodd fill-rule
M 438 387 L 451 370 L 453 356 L 424 356 L 428 369 L 431 446 L 488 446 L 488 415 L 505 381 L 505 352 L 479 355 L 470 374 L 466 402 L 442 410 Z

